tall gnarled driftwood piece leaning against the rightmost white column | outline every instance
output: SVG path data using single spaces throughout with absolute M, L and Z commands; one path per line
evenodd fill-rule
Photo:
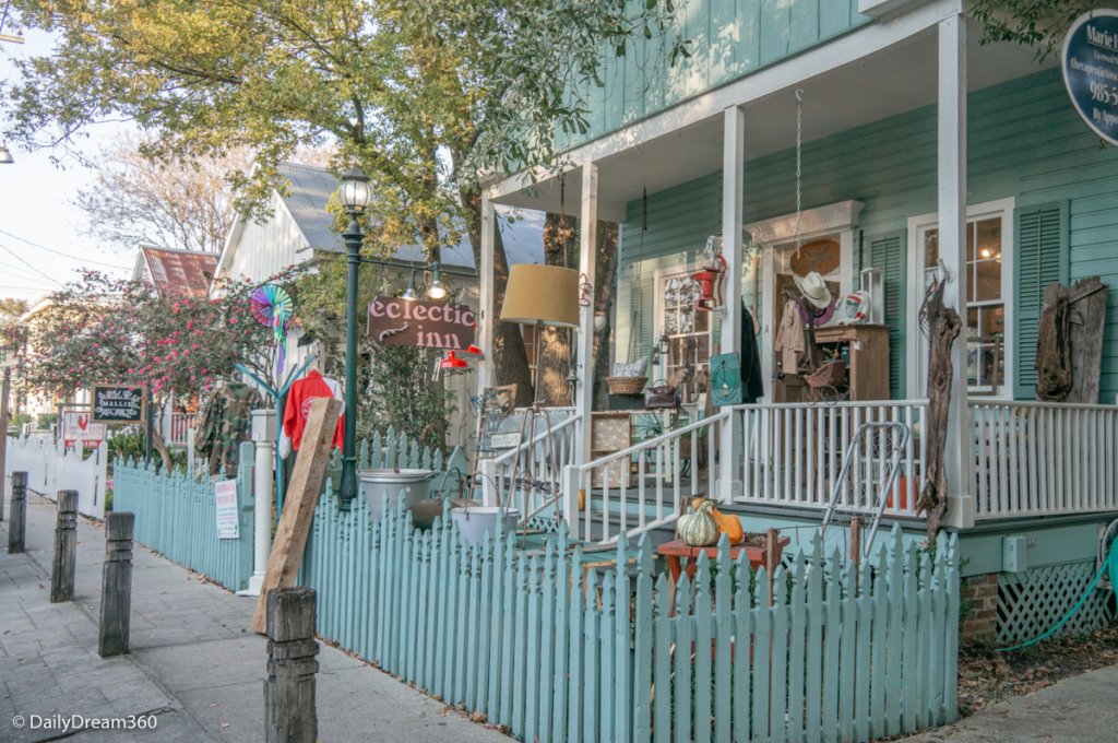
M 917 508 L 928 515 L 928 539 L 935 539 L 947 512 L 947 416 L 951 402 L 951 346 L 959 335 L 959 314 L 946 308 L 931 319 L 928 350 L 927 469 Z

